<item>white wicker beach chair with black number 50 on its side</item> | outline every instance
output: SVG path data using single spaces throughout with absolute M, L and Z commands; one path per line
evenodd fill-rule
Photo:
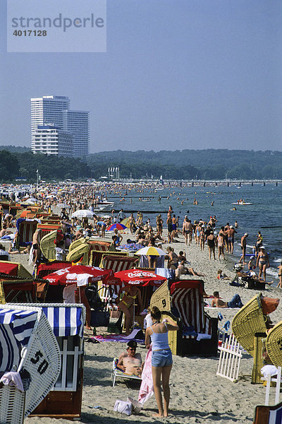
M 59 376 L 59 346 L 40 308 L 11 304 L 0 307 L 0 346 L 1 372 L 30 375 L 24 393 L 10 386 L 0 389 L 0 423 L 22 423 Z

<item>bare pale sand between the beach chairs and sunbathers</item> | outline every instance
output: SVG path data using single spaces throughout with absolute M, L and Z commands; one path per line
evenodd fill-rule
M 106 234 L 110 239 L 111 235 Z M 238 293 L 245 304 L 256 293 L 256 290 L 232 287 L 228 281 L 216 279 L 217 269 L 222 269 L 223 273 L 233 276 L 232 259 L 228 257 L 226 261 L 218 259 L 209 261 L 208 249 L 200 251 L 200 247 L 195 245 L 194 240 L 190 247 L 185 246 L 183 237 L 180 235 L 178 242 L 170 244 L 178 253 L 185 250 L 188 261 L 196 270 L 204 273 L 204 287 L 209 295 L 214 290 L 219 290 L 223 300 L 231 300 L 235 293 Z M 164 244 L 163 248 L 166 249 Z M 18 261 L 28 266 L 28 255 L 13 255 L 12 261 Z M 184 278 L 184 276 L 182 276 Z M 191 277 L 188 277 L 191 278 Z M 277 288 L 269 287 L 264 290 L 263 295 L 271 298 L 279 298 L 280 292 Z M 219 312 L 223 315 L 223 320 L 219 322 L 219 328 L 230 319 L 238 310 L 224 310 L 221 308 L 210 309 L 208 312 L 212 317 L 216 317 Z M 281 306 L 271 314 L 274 323 L 281 321 Z M 97 329 L 98 334 L 102 334 L 106 329 Z M 229 382 L 222 377 L 216 377 L 218 358 L 181 358 L 173 356 L 173 369 L 171 372 L 171 404 L 169 418 L 152 418 L 152 413 L 156 411 L 157 405 L 154 396 L 147 401 L 140 415 L 127 417 L 113 411 L 116 399 L 126 400 L 127 396 L 137 399 L 138 387 L 128 387 L 119 380 L 116 387 L 111 384 L 111 364 L 114 357 L 118 356 L 125 348 L 122 343 L 85 343 L 85 367 L 84 367 L 84 387 L 82 394 L 82 423 L 159 423 L 168 421 L 169 423 L 252 423 L 255 406 L 264 404 L 265 387 L 262 384 L 251 384 L 250 375 L 252 372 L 252 357 L 245 353 L 240 365 L 240 378 L 237 383 Z M 145 358 L 146 348 L 140 345 L 137 348 L 142 358 Z M 51 423 L 51 418 L 28 418 L 28 423 Z M 58 423 L 68 423 L 67 420 L 59 419 Z

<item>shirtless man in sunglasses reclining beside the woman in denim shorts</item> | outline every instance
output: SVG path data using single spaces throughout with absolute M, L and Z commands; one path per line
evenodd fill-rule
M 140 353 L 136 353 L 136 348 L 136 341 L 128 341 L 126 352 L 121 353 L 120 357 L 118 358 L 118 364 L 116 367 L 128 375 L 141 376 L 144 363 L 142 363 Z

